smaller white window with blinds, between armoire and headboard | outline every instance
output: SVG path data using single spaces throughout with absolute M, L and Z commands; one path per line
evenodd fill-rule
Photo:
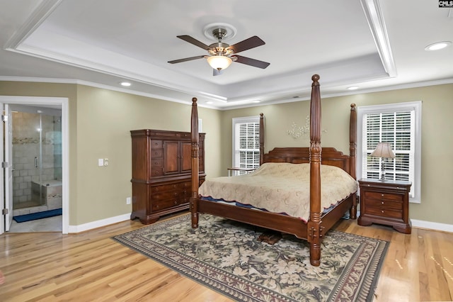
M 233 167 L 260 166 L 260 116 L 233 118 Z M 239 172 L 243 174 L 246 172 Z

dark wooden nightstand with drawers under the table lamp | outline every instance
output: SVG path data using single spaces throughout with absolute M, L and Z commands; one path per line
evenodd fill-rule
M 391 225 L 401 233 L 411 234 L 409 220 L 410 181 L 360 179 L 360 217 L 358 225 Z

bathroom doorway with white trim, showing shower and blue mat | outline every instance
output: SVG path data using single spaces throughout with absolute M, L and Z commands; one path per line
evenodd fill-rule
M 3 131 L 0 233 L 68 233 L 67 99 L 0 96 L 0 103 L 8 116 Z M 50 213 L 49 218 L 16 219 Z

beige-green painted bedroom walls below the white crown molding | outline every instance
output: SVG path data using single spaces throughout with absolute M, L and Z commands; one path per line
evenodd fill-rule
M 322 83 L 321 83 L 322 84 Z M 0 95 L 61 96 L 69 98 L 70 225 L 130 213 L 125 198 L 131 196 L 130 130 L 158 128 L 190 131 L 190 100 L 178 104 L 144 96 L 81 86 L 0 82 Z M 322 96 L 322 86 L 321 86 Z M 322 101 L 323 146 L 349 152 L 349 108 L 423 101 L 422 199 L 410 205 L 410 218 L 453 224 L 453 84 L 400 89 Z M 226 175 L 231 165 L 231 118 L 265 114 L 265 150 L 273 147 L 309 146 L 308 139 L 287 134 L 292 122 L 305 124 L 309 101 L 216 111 L 199 108 L 206 135 L 207 177 Z M 108 158 L 108 167 L 98 167 L 98 158 Z

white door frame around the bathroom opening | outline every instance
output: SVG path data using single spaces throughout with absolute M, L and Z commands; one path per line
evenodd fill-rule
M 62 109 L 62 233 L 69 232 L 69 99 L 47 96 L 0 96 L 1 104 L 30 106 L 61 106 Z M 1 186 L 4 184 L 2 182 Z M 3 191 L 3 190 L 2 190 Z M 1 201 L 3 202 L 3 201 Z M 0 234 L 4 232 L 5 216 L 0 215 Z

